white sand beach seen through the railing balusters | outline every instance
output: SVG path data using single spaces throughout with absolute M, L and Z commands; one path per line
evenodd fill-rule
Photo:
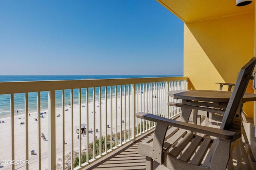
M 143 94 L 142 94 L 143 95 Z M 107 125 L 110 125 L 110 116 L 111 113 L 113 115 L 113 133 L 115 133 L 115 122 L 116 122 L 116 102 L 115 98 L 113 98 L 112 101 L 112 112 L 110 110 L 110 99 L 108 99 L 107 102 L 107 109 L 108 109 L 108 115 L 107 115 Z M 124 96 L 122 96 L 122 120 L 126 122 L 127 129 L 128 129 L 128 119 L 129 114 L 127 113 L 126 119 L 125 117 L 125 111 L 124 111 Z M 152 99 L 151 99 L 152 100 Z M 153 99 L 154 100 L 154 99 Z M 126 101 L 128 101 L 128 96 L 126 96 Z M 118 111 L 118 126 L 122 124 L 122 129 L 124 129 L 124 124 L 121 123 L 120 120 L 120 98 L 118 98 L 117 102 L 117 111 Z M 128 102 L 126 102 L 128 103 Z M 100 104 L 101 104 L 101 121 L 102 121 L 102 127 L 100 131 Z M 99 106 L 99 107 L 97 107 Z M 82 104 L 81 107 L 81 123 L 86 123 L 88 130 L 92 132 L 89 133 L 89 143 L 93 141 L 94 133 L 99 138 L 100 133 L 102 136 L 106 136 L 106 115 L 105 115 L 105 106 L 106 101 L 102 100 L 100 102 L 95 102 L 95 114 L 92 113 L 94 108 L 94 103 L 89 103 L 89 123 L 86 121 L 86 104 Z M 140 104 L 139 104 L 140 107 Z M 62 114 L 62 108 L 56 108 L 55 115 L 60 114 L 60 117 L 56 117 L 56 164 L 62 164 L 62 117 L 65 116 L 65 155 L 69 154 L 71 152 L 71 108 L 70 106 L 65 107 L 65 115 Z M 74 105 L 73 109 L 73 141 L 74 141 L 74 151 L 79 150 L 79 139 L 78 134 L 76 133 L 76 126 L 79 124 L 79 106 L 76 104 Z M 128 110 L 128 107 L 126 106 L 126 110 Z M 140 108 L 139 108 L 140 111 Z M 143 111 L 143 110 L 142 110 Z M 41 112 L 46 112 L 46 114 L 43 114 L 43 118 L 37 118 L 41 121 L 41 133 L 43 133 L 46 137 L 46 140 L 43 140 L 40 137 L 41 140 L 41 161 L 42 161 L 42 170 L 45 170 L 48 168 L 48 110 L 43 110 Z M 95 115 L 95 129 L 98 129 L 98 133 L 94 132 L 94 115 Z M 35 118 L 38 117 L 37 112 L 31 112 L 30 116 L 28 116 L 28 154 L 29 154 L 29 169 L 38 169 L 38 121 L 35 121 Z M 1 154 L 0 154 L 0 160 L 12 160 L 11 159 L 11 128 L 10 128 L 10 117 L 1 117 L 0 120 L 4 120 L 5 123 L 0 123 L 0 147 L 1 147 Z M 26 161 L 25 156 L 25 147 L 26 147 L 26 126 L 25 124 L 20 124 L 20 122 L 25 122 L 25 115 L 24 114 L 18 114 L 14 115 L 14 139 L 15 139 L 15 162 L 20 160 Z M 118 130 L 120 131 L 120 129 Z M 108 134 L 110 134 L 110 128 L 108 128 Z M 81 135 L 82 137 L 82 149 L 85 149 L 86 146 L 86 135 Z M 34 150 L 34 155 L 31 155 L 31 150 Z M 6 162 L 5 162 L 6 163 Z M 6 170 L 10 169 L 10 164 L 3 164 L 1 162 L 1 169 Z M 15 163 L 15 169 L 24 169 L 24 164 L 17 164 Z

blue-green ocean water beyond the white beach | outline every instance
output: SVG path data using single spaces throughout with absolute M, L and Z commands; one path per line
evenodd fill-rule
M 82 79 L 108 79 L 108 78 L 143 78 L 143 77 L 169 77 L 173 75 L 46 75 L 46 76 L 0 76 L 0 82 L 11 82 L 11 81 L 43 81 L 43 80 L 82 80 Z M 180 76 L 180 75 L 179 75 Z M 119 93 L 119 88 L 117 88 Z M 89 102 L 92 100 L 92 88 L 88 89 L 89 91 Z M 104 94 L 105 89 L 102 88 L 102 94 Z M 110 87 L 107 87 L 107 92 L 110 94 Z M 112 89 L 114 92 L 114 89 Z M 70 104 L 70 90 L 64 90 L 65 93 L 65 106 Z M 24 113 L 24 93 L 14 94 L 14 113 Z M 56 107 L 61 107 L 61 90 L 56 91 Z M 81 89 L 81 99 L 82 103 L 86 102 L 86 89 Z M 99 88 L 95 89 L 96 99 L 99 96 Z M 104 96 L 102 96 L 104 97 Z M 114 94 L 113 94 L 114 97 Z M 40 92 L 41 100 L 41 110 L 48 108 L 48 93 Z M 78 89 L 73 90 L 73 103 L 78 104 Z M 37 93 L 31 92 L 28 93 L 28 112 L 37 110 Z M 10 95 L 0 95 L 0 117 L 10 115 Z

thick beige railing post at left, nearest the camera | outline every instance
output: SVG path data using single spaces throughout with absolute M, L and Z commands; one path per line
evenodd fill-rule
M 55 90 L 48 91 L 48 167 L 56 169 L 56 142 L 55 142 Z M 40 118 L 39 118 L 40 119 Z

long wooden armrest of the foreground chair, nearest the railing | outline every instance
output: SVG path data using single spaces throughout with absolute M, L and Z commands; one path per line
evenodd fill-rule
M 214 127 L 206 127 L 201 125 L 195 125 L 192 123 L 176 121 L 173 119 L 167 119 L 165 117 L 160 117 L 157 115 L 153 115 L 150 113 L 143 113 L 143 112 L 136 113 L 136 117 L 141 119 L 146 119 L 149 121 L 154 121 L 154 122 L 161 123 L 168 126 L 174 126 L 174 127 L 178 127 L 185 130 L 194 131 L 197 133 L 203 133 L 203 134 L 214 136 L 220 139 L 228 140 L 230 142 L 241 137 L 241 131 L 239 131 L 239 129 L 236 132 L 228 131 L 224 129 L 217 129 Z

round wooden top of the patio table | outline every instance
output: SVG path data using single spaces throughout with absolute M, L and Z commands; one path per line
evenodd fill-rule
M 175 99 L 185 99 L 205 102 L 228 102 L 232 92 L 220 90 L 174 90 L 168 95 Z M 256 94 L 245 93 L 242 102 L 255 101 Z

